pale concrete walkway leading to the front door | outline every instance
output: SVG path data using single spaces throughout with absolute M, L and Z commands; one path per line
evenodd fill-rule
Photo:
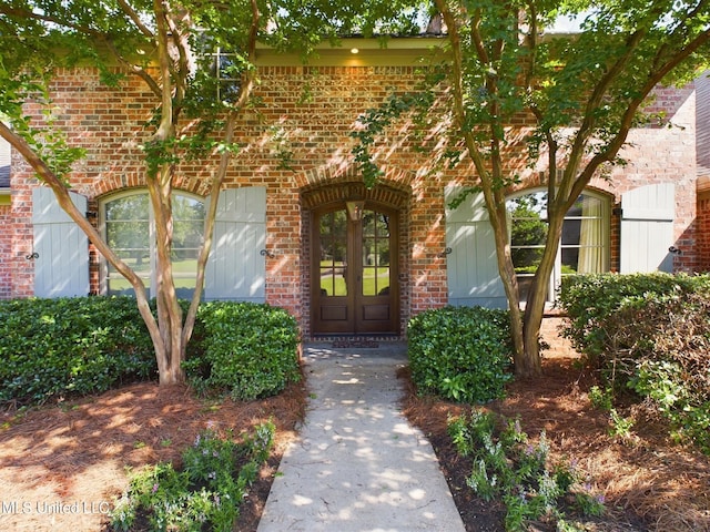
M 406 346 L 304 349 L 311 400 L 258 532 L 463 532 L 430 443 L 402 415 Z

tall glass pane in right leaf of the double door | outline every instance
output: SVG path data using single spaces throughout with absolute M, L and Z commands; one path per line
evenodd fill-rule
M 363 214 L 363 296 L 389 293 L 389 217 L 375 211 Z

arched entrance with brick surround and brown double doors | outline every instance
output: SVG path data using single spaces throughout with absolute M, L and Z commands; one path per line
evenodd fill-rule
M 408 186 L 385 182 L 301 192 L 311 336 L 402 334 L 410 197 Z

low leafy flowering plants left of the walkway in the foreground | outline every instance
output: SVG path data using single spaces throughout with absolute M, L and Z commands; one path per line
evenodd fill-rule
M 111 512 L 114 531 L 229 532 L 248 487 L 273 447 L 275 427 L 264 423 L 237 443 L 214 429 L 197 434 L 182 454 L 182 471 L 159 463 L 134 473 Z

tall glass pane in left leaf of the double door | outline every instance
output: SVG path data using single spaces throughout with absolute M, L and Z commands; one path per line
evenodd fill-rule
M 335 211 L 321 216 L 321 295 L 347 296 L 345 274 L 347 268 L 347 215 Z

